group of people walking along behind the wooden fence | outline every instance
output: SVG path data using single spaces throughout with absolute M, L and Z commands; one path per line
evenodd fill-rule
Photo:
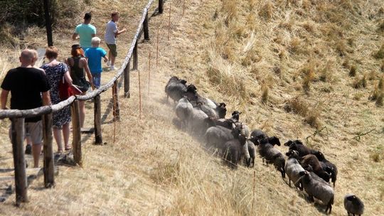
M 1 109 L 8 109 L 9 92 L 11 92 L 11 109 L 34 109 L 41 106 L 58 104 L 60 99 L 59 84 L 67 82 L 80 90 L 79 95 L 85 95 L 90 87 L 100 87 L 102 58 L 115 70 L 114 61 L 117 57 L 116 37 L 124 33 L 126 29 L 119 30 L 116 22 L 119 21 L 119 12 L 111 14 L 111 21 L 107 23 L 105 43 L 109 48 L 107 52 L 100 48 L 101 39 L 96 36 L 96 28 L 90 24 L 92 15 L 85 13 L 84 22 L 76 26 L 73 40 L 80 38 L 80 44 L 72 45 L 71 57 L 65 59 L 65 63 L 58 61 L 58 48 L 49 46 L 46 48 L 48 63 L 37 68 L 38 53 L 33 49 L 25 49 L 21 52 L 18 68 L 7 72 L 1 83 Z M 86 80 L 86 77 L 88 81 Z M 85 102 L 79 102 L 80 126 L 85 121 Z M 70 150 L 70 107 L 60 109 L 53 113 L 53 136 L 58 144 L 58 152 Z M 41 116 L 26 118 L 24 123 L 26 134 L 26 153 L 32 153 L 34 167 L 38 168 L 41 148 L 43 144 L 43 125 Z M 11 137 L 11 128 L 9 129 Z M 62 136 L 63 135 L 63 136 Z

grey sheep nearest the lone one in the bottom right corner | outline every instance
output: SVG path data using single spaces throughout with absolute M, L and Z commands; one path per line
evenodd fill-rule
M 302 171 L 299 175 L 302 177 L 297 180 L 295 185 L 298 181 L 301 181 L 305 192 L 309 195 L 309 199 L 312 202 L 314 202 L 314 197 L 321 200 L 321 202 L 326 205 L 325 212 L 329 210 L 329 214 L 331 214 L 335 196 L 334 189 L 331 185 L 312 172 L 309 173 L 308 171 Z

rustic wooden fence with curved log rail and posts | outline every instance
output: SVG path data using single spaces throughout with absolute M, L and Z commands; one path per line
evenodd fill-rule
M 54 160 L 53 160 L 53 136 L 52 136 L 52 113 L 58 112 L 60 109 L 70 106 L 72 114 L 73 127 L 73 158 L 75 163 L 82 165 L 82 149 L 81 149 L 81 131 L 80 131 L 80 110 L 79 101 L 93 99 L 94 101 L 94 126 L 95 126 L 95 144 L 102 144 L 102 129 L 101 129 L 101 104 L 100 94 L 112 87 L 113 99 L 113 115 L 114 121 L 119 121 L 119 98 L 118 98 L 118 82 L 117 79 L 124 75 L 124 97 L 129 98 L 129 72 L 130 62 L 133 55 L 133 70 L 138 69 L 138 41 L 144 31 L 144 40 L 149 40 L 149 18 L 148 12 L 154 0 L 149 0 L 142 13 L 142 18 L 139 21 L 136 34 L 132 40 L 127 56 L 122 63 L 122 67 L 117 74 L 97 90 L 94 90 L 87 95 L 71 96 L 63 102 L 52 106 L 38 107 L 36 109 L 9 109 L 0 110 L 0 119 L 11 119 L 11 142 L 14 153 L 14 171 L 15 171 L 15 188 L 16 188 L 16 205 L 21 202 L 28 202 L 27 195 L 27 178 L 26 178 L 26 161 L 24 158 L 23 137 L 24 137 L 24 119 L 30 117 L 43 116 L 43 173 L 44 185 L 50 188 L 55 185 L 54 178 Z M 157 8 L 158 13 L 163 13 L 163 0 L 159 0 Z

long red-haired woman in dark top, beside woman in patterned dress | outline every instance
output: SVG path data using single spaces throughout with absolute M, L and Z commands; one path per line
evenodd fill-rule
M 84 58 L 84 50 L 78 44 L 72 45 L 71 50 L 72 57 L 67 59 L 67 64 L 69 65 L 70 77 L 73 80 L 73 85 L 78 87 L 82 91 L 82 95 L 85 95 L 87 90 L 92 85 L 92 75 L 90 73 L 90 68 L 88 68 L 87 60 Z M 85 80 L 85 72 L 87 73 L 88 80 Z M 84 126 L 85 119 L 85 102 L 79 101 L 80 109 L 80 126 Z

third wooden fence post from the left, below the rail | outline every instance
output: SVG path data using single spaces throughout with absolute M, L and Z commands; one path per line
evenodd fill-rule
M 75 163 L 78 163 L 79 166 L 82 166 L 80 110 L 77 99 L 70 105 L 70 111 L 72 114 L 73 160 L 75 160 Z

